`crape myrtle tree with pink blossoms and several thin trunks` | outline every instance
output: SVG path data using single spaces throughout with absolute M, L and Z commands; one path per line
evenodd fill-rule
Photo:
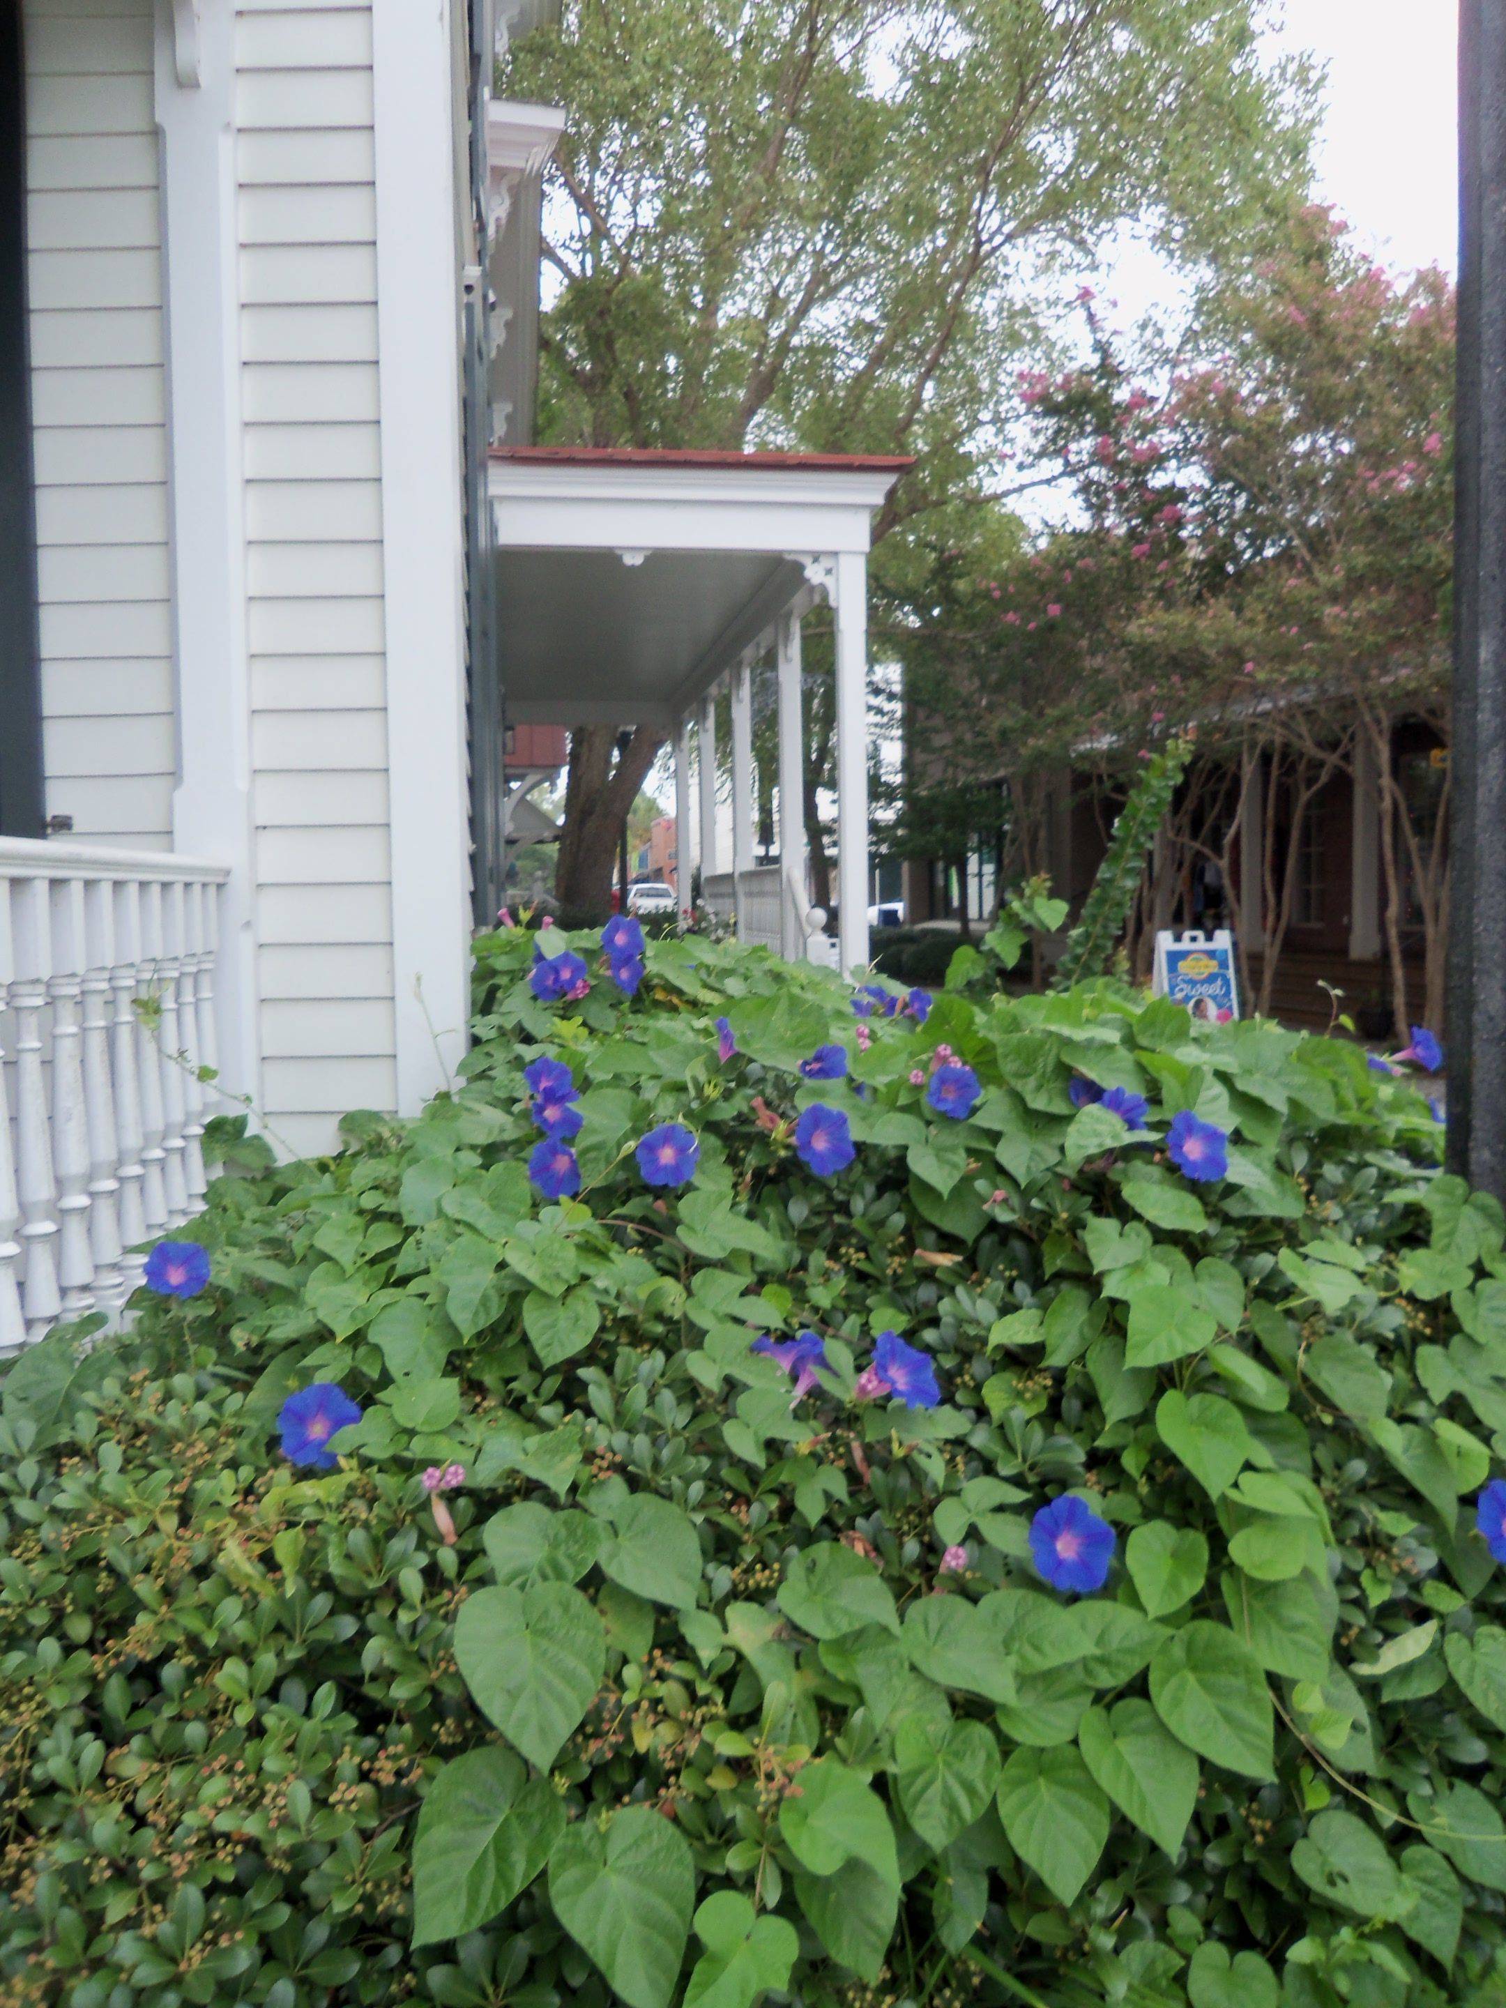
M 1369 263 L 1327 209 L 1205 301 L 1161 388 L 1124 365 L 1084 301 L 1090 361 L 1024 371 L 1018 400 L 1072 522 L 1012 562 L 932 550 L 902 629 L 916 785 L 994 777 L 1010 863 L 1040 869 L 1044 777 L 1070 767 L 1104 813 L 1175 731 L 1197 755 L 1131 926 L 1149 954 L 1199 857 L 1231 871 L 1249 789 L 1263 795 L 1269 1004 L 1321 789 L 1367 757 L 1379 797 L 1384 944 L 1406 1024 L 1406 930 L 1442 1012 L 1448 765 L 1416 787 L 1414 745 L 1448 743 L 1454 297 L 1438 271 Z M 1426 763 L 1426 757 L 1424 757 Z M 1249 916 L 1253 924 L 1255 916 Z

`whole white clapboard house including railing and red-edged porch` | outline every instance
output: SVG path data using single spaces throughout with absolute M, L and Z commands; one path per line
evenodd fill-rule
M 548 8 L 0 0 L 0 1351 L 112 1311 L 193 1213 L 229 1106 L 201 1064 L 307 1153 L 446 1082 L 512 721 L 679 731 L 689 831 L 731 685 L 703 873 L 801 954 L 799 813 L 753 869 L 749 677 L 779 665 L 797 803 L 817 594 L 867 956 L 863 576 L 902 464 L 528 446 L 568 106 L 492 76 Z

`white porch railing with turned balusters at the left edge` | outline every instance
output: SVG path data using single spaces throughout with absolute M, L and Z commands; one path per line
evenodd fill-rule
M 0 837 L 0 1357 L 114 1321 L 139 1245 L 203 1205 L 225 877 Z

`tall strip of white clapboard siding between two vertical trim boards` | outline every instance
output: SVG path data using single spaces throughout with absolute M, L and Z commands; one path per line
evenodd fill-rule
M 263 1100 L 301 1151 L 392 1108 L 369 6 L 237 4 Z

